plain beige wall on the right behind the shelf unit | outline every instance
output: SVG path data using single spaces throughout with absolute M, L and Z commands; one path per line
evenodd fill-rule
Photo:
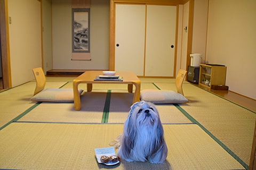
M 256 99 L 256 1 L 209 0 L 206 62 L 227 66 L 229 90 Z

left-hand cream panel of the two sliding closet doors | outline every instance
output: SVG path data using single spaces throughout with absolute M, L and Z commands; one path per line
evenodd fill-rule
M 116 4 L 115 70 L 143 75 L 145 5 Z

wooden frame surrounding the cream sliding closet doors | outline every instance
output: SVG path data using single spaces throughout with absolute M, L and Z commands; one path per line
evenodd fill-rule
M 189 2 L 189 24 L 188 24 L 188 42 L 187 42 L 187 62 L 186 68 L 190 65 L 190 56 L 192 49 L 193 35 L 193 15 L 194 15 L 194 0 L 110 0 L 109 14 L 109 70 L 115 70 L 115 4 L 154 4 L 154 5 L 183 5 Z M 176 64 L 174 64 L 175 66 Z M 175 73 L 175 70 L 174 70 Z

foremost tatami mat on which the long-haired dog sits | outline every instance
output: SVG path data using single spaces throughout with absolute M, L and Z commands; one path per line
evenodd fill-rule
M 164 164 L 98 164 L 94 148 L 122 133 L 121 124 L 12 123 L 0 131 L 0 168 L 12 169 L 243 169 L 197 125 L 163 125 Z

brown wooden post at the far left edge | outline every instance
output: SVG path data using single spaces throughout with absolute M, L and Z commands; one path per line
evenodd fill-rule
M 7 9 L 7 0 L 0 0 L 0 37 L 4 89 L 9 89 L 12 87 L 9 46 L 9 23 Z

